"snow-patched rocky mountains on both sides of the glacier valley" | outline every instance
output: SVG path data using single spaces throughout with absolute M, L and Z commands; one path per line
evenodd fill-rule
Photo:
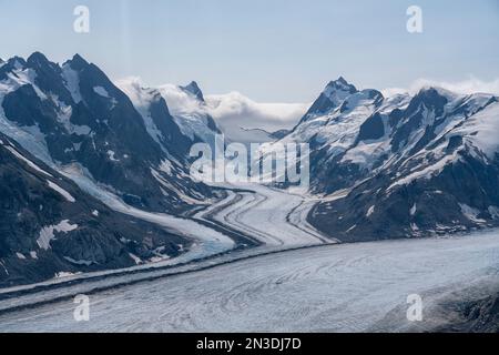
M 113 83 L 78 54 L 63 64 L 39 52 L 0 61 L 0 286 L 190 250 L 185 233 L 125 212 L 190 217 L 225 199 L 230 187 L 190 176 L 191 146 L 216 144 L 220 133 L 265 142 L 264 152 L 308 143 L 307 194 L 317 203 L 306 217 L 335 241 L 499 225 L 492 94 L 425 88 L 385 98 L 339 78 L 294 128 L 276 132 L 221 124 L 215 99 L 196 82 Z

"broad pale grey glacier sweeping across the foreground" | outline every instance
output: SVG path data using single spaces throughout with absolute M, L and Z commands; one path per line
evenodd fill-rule
M 72 300 L 6 313 L 2 332 L 405 331 L 407 296 L 431 310 L 499 271 L 499 232 L 464 237 L 324 245 L 242 260 L 91 295 L 90 321 Z

